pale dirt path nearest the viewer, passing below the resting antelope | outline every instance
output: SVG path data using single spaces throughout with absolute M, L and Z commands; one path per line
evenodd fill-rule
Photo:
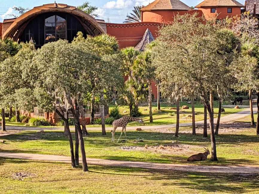
M 0 157 L 4 158 L 19 158 L 26 160 L 42 160 L 42 161 L 55 161 L 70 163 L 71 158 L 68 156 L 57 155 L 43 155 L 43 154 L 27 154 L 27 153 L 11 153 L 0 152 Z M 81 158 L 80 158 L 81 161 Z M 144 169 L 161 169 L 172 171 L 188 171 L 188 172 L 215 172 L 215 173 L 239 173 L 251 174 L 259 173 L 259 167 L 256 166 L 191 166 L 181 164 L 161 164 L 151 162 L 132 162 L 132 161 L 112 161 L 87 158 L 87 163 L 92 165 L 107 165 L 107 166 L 124 166 Z

